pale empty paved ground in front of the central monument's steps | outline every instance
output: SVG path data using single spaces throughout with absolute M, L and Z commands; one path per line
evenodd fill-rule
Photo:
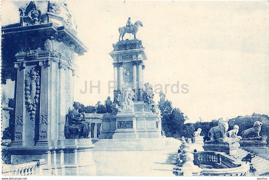
M 96 175 L 174 176 L 174 150 L 93 151 Z

